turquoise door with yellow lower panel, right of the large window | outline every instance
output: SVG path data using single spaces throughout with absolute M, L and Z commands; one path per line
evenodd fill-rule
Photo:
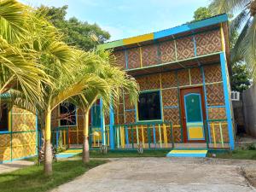
M 183 96 L 185 125 L 188 141 L 205 140 L 204 119 L 200 93 L 188 93 Z

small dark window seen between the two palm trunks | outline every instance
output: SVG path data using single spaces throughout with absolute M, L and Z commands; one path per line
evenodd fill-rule
M 60 125 L 61 126 L 75 126 L 77 125 L 76 107 L 72 103 L 63 102 L 60 105 Z

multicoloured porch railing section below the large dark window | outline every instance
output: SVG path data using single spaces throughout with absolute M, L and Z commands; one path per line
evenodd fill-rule
M 147 122 L 113 126 L 117 149 L 174 148 L 171 122 Z

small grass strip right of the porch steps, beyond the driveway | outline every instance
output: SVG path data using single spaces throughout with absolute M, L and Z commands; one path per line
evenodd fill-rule
M 236 149 L 232 152 L 214 154 L 217 158 L 222 159 L 256 160 L 256 150 Z M 212 157 L 212 153 L 207 154 L 207 156 Z

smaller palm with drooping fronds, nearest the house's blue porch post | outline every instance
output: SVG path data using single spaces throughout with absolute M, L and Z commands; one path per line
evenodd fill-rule
M 91 59 L 90 58 L 94 58 Z M 88 61 L 92 62 L 88 62 Z M 113 58 L 108 51 L 97 51 L 96 54 L 84 53 L 80 57 L 80 66 L 85 73 L 94 73 L 96 76 L 105 81 L 108 86 L 102 90 L 99 87 L 88 89 L 79 96 L 73 97 L 70 102 L 73 102 L 79 108 L 82 108 L 84 113 L 84 139 L 83 139 L 83 162 L 90 161 L 89 153 L 89 113 L 90 108 L 101 98 L 104 106 L 104 111 L 108 111 L 110 105 L 115 106 L 119 103 L 119 98 L 125 94 L 130 96 L 131 103 L 137 102 L 138 85 L 131 76 L 127 75 L 119 67 L 114 66 Z

